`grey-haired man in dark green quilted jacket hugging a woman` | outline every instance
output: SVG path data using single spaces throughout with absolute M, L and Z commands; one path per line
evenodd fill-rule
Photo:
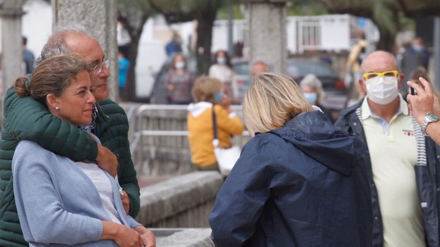
M 126 213 L 134 218 L 139 212 L 140 193 L 130 154 L 128 119 L 124 110 L 108 99 L 110 59 L 84 27 L 63 23 L 54 28 L 37 63 L 68 53 L 83 55 L 90 64 L 92 93 L 97 102 L 93 107 L 93 121 L 76 128 L 51 115 L 43 103 L 31 97 L 18 97 L 14 88 L 7 91 L 0 141 L 0 246 L 28 246 L 17 215 L 11 171 L 15 147 L 21 140 L 34 141 L 73 161 L 96 161 L 112 176 L 117 175 Z M 45 131 L 41 133 L 36 129 Z M 96 135 L 102 145 L 87 131 Z

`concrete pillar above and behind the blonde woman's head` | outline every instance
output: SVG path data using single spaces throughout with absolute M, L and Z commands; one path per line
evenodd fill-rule
M 249 10 L 249 68 L 263 61 L 275 73 L 286 73 L 287 0 L 243 0 Z

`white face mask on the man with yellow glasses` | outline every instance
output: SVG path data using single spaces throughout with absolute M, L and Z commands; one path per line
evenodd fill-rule
M 368 98 L 374 103 L 388 104 L 392 102 L 398 96 L 397 90 L 397 78 L 394 82 L 385 82 L 382 77 L 379 78 L 379 82 L 376 84 L 367 85 Z

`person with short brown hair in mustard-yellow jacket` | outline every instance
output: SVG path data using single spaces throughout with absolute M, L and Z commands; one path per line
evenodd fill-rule
M 214 154 L 213 111 L 217 119 L 219 147 L 232 146 L 232 135 L 241 135 L 244 126 L 231 110 L 229 97 L 222 94 L 218 79 L 202 76 L 193 87 L 193 104 L 188 106 L 188 140 L 191 146 L 191 161 L 198 170 L 219 170 Z

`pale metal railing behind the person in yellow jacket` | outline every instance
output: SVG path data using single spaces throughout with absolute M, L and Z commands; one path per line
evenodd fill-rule
M 242 116 L 240 105 L 231 108 L 239 117 Z M 183 174 L 193 170 L 186 105 L 144 104 L 132 114 L 131 123 L 134 124 L 130 151 L 138 175 Z M 249 139 L 249 132 L 244 131 L 233 141 L 243 146 Z

